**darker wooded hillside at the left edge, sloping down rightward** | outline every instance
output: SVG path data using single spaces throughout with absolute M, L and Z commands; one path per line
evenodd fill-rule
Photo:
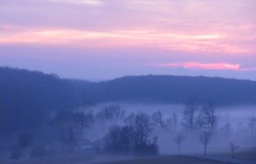
M 86 104 L 76 87 L 55 75 L 0 68 L 0 133 L 41 127 L 51 112 Z

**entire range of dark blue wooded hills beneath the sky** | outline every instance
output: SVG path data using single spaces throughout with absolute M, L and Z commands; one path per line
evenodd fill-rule
M 137 76 L 89 82 L 0 67 L 1 131 L 35 128 L 48 113 L 109 101 L 256 103 L 256 82 L 219 77 Z M 16 121 L 12 121 L 15 119 Z M 31 124 L 33 122 L 33 124 Z

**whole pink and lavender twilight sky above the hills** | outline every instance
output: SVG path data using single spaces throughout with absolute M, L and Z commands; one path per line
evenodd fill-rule
M 0 0 L 0 66 L 256 80 L 255 0 Z

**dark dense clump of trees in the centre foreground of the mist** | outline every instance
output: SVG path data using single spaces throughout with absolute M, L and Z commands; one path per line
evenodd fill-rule
M 108 152 L 136 152 L 156 154 L 157 139 L 152 138 L 153 124 L 146 113 L 129 117 L 125 126 L 113 126 L 105 136 L 104 149 Z

